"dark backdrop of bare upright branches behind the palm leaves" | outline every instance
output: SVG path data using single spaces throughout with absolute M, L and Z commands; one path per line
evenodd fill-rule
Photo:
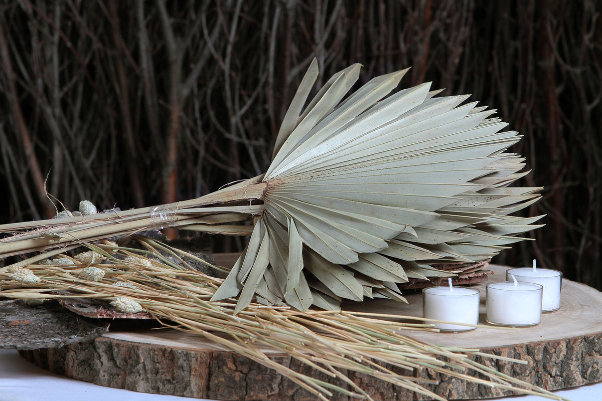
M 19 0 L 0 7 L 1 222 L 149 206 L 265 170 L 311 58 L 471 93 L 523 133 L 547 226 L 495 262 L 600 289 L 597 2 Z M 321 79 L 321 78 L 320 78 Z M 234 249 L 226 240 L 219 250 Z

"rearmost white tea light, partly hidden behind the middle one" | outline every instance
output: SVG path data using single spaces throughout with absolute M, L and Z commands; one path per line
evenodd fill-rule
M 560 289 L 562 288 L 562 273 L 552 269 L 538 269 L 536 260 L 533 259 L 533 269 L 517 268 L 506 271 L 506 280 L 510 281 L 510 274 L 514 275 L 521 283 L 541 284 L 544 287 L 542 295 L 542 312 L 553 312 L 560 308 Z

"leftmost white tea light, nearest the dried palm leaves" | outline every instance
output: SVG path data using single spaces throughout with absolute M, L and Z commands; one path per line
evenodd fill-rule
M 448 279 L 448 287 L 429 287 L 423 290 L 423 317 L 443 320 L 450 323 L 433 323 L 441 331 L 468 331 L 474 327 L 455 325 L 479 323 L 479 290 L 453 287 Z

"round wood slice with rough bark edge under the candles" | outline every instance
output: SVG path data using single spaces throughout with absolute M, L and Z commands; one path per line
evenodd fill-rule
M 217 258 L 216 258 L 217 259 Z M 490 266 L 489 281 L 503 281 L 504 266 Z M 541 324 L 529 328 L 500 329 L 485 323 L 485 283 L 480 290 L 480 323 L 485 326 L 459 333 L 408 331 L 429 343 L 475 347 L 483 352 L 518 358 L 527 364 L 476 357 L 480 363 L 547 390 L 602 381 L 602 293 L 583 284 L 563 280 L 560 310 L 546 313 Z M 368 301 L 347 309 L 422 316 L 420 293 L 407 296 L 410 305 L 393 301 Z M 146 393 L 171 394 L 216 400 L 301 401 L 315 397 L 300 390 L 272 370 L 228 352 L 202 337 L 173 329 L 116 329 L 92 341 L 59 349 L 36 349 L 21 354 L 38 366 L 70 378 Z M 310 373 L 285 355 L 270 358 Z M 396 368 L 392 368 L 396 369 Z M 314 372 L 315 373 L 315 372 Z M 407 371 L 403 372 L 406 375 Z M 436 379 L 429 388 L 448 399 L 479 399 L 513 393 L 438 375 L 429 370 L 411 372 Z M 325 375 L 318 378 L 329 381 Z M 350 372 L 349 378 L 375 400 L 423 400 L 425 397 Z M 332 400 L 348 400 L 335 394 Z

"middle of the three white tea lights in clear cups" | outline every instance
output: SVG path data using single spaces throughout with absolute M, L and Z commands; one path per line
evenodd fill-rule
M 541 322 L 542 286 L 532 283 L 487 284 L 486 320 L 500 326 L 533 326 Z

